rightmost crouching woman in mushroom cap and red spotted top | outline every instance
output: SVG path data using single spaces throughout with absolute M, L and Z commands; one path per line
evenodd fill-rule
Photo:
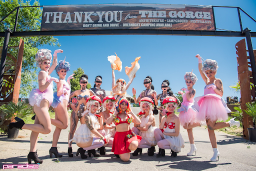
M 175 108 L 177 108 L 177 99 L 172 96 L 164 98 L 162 101 L 163 108 L 168 112 L 162 116 L 159 129 L 154 130 L 154 137 L 159 147 L 159 152 L 156 157 L 165 155 L 164 149 L 171 149 L 171 157 L 176 157 L 177 152 L 181 151 L 184 147 L 184 140 L 179 133 L 179 118 L 174 114 Z

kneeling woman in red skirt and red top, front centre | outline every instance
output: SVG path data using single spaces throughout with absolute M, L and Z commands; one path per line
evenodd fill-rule
M 129 101 L 126 98 L 120 98 L 117 102 L 116 111 L 106 119 L 106 124 L 115 123 L 116 132 L 112 145 L 112 152 L 116 157 L 123 161 L 128 161 L 130 151 L 135 150 L 141 136 L 136 135 L 130 129 L 130 123 L 140 124 L 140 119 L 130 109 Z

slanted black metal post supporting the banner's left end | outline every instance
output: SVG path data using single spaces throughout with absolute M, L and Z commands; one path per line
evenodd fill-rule
M 7 28 L 5 30 L 4 34 L 4 41 L 3 41 L 3 47 L 2 47 L 2 56 L 1 56 L 1 63 L 0 63 L 0 92 L 2 90 L 2 81 L 3 81 L 3 73 L 4 73 L 4 66 L 6 61 L 6 55 L 7 55 L 7 48 L 9 43 L 9 37 L 10 37 L 10 29 Z

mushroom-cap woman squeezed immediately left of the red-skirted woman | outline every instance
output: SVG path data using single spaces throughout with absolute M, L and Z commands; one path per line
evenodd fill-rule
M 110 125 L 106 124 L 106 119 L 113 114 L 114 107 L 115 107 L 116 100 L 112 95 L 107 95 L 103 98 L 102 104 L 104 107 L 104 111 L 101 111 L 99 114 L 102 116 L 103 119 L 103 129 L 105 130 L 105 138 L 107 144 L 104 146 L 112 147 L 113 144 L 113 137 L 115 133 L 115 124 L 112 122 Z M 98 148 L 100 155 L 105 154 L 105 147 L 101 146 Z

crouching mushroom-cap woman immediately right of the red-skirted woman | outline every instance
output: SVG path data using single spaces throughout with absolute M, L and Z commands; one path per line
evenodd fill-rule
M 141 136 L 141 140 L 138 143 L 137 149 L 132 153 L 132 155 L 138 155 L 142 153 L 142 148 L 148 148 L 147 154 L 149 156 L 154 155 L 154 146 L 157 144 L 154 137 L 155 118 L 153 115 L 153 100 L 149 97 L 143 97 L 139 101 L 140 112 L 137 114 L 141 120 L 140 124 L 135 124 L 131 130 Z

